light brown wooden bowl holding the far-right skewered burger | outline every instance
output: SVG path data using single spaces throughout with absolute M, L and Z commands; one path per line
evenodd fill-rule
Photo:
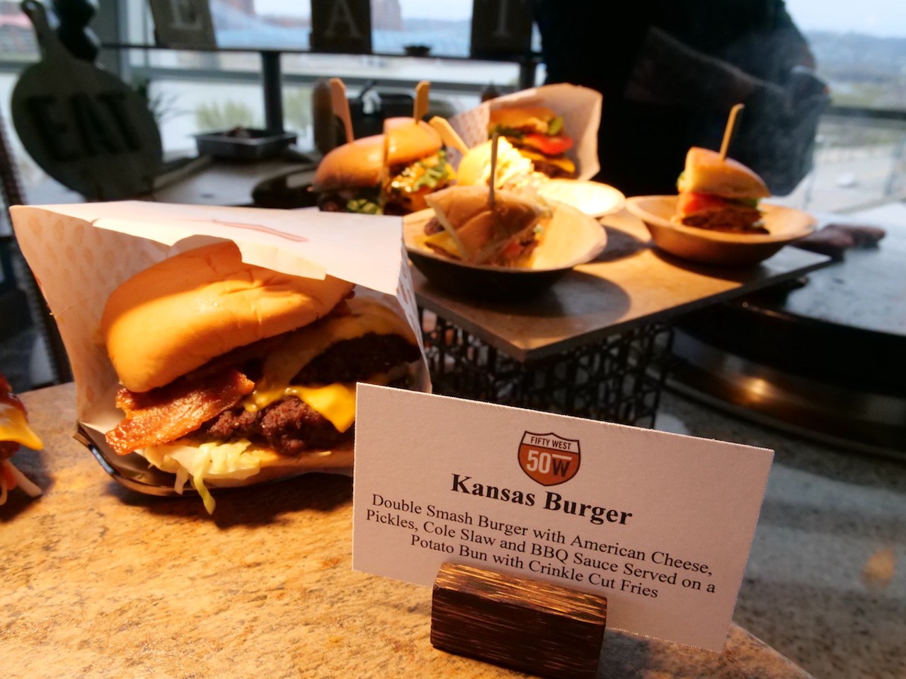
M 784 245 L 814 233 L 816 220 L 791 207 L 762 205 L 767 234 L 727 234 L 673 222 L 677 196 L 634 196 L 626 209 L 648 227 L 651 240 L 666 253 L 715 266 L 752 266 Z

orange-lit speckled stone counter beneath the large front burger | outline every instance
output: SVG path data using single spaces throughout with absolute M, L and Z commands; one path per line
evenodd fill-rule
M 45 448 L 17 462 L 44 495 L 0 507 L 6 676 L 518 675 L 430 646 L 429 589 L 352 571 L 350 479 L 224 493 L 211 518 L 113 482 L 72 439 L 72 385 L 23 400 Z M 719 655 L 608 632 L 602 658 L 613 679 L 809 676 L 736 625 Z

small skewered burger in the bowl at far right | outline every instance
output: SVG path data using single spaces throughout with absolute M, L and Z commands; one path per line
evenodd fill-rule
M 755 172 L 708 148 L 689 148 L 686 167 L 677 180 L 674 220 L 734 234 L 766 234 L 758 201 L 770 196 Z

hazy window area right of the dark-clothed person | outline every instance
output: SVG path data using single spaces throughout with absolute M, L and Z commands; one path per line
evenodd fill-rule
M 786 5 L 811 44 L 834 106 L 819 128 L 814 171 L 786 202 L 858 212 L 903 201 L 906 14 L 901 4 L 787 0 Z

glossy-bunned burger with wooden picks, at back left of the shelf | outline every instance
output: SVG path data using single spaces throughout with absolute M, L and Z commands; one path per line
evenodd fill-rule
M 322 210 L 407 215 L 425 209 L 424 196 L 452 183 L 455 172 L 428 123 L 391 118 L 384 127 L 385 134 L 355 139 L 324 156 L 312 186 Z

